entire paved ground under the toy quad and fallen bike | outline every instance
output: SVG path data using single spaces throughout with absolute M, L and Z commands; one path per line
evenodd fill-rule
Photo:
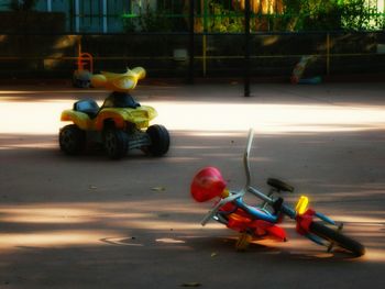
M 385 288 L 385 85 L 142 86 L 172 134 L 166 157 L 111 162 L 57 147 L 59 113 L 106 91 L 0 87 L 0 288 Z M 367 247 L 327 254 L 296 235 L 234 251 L 237 234 L 199 222 L 189 182 L 206 165 L 243 185 L 255 129 L 253 181 L 280 177 L 345 221 Z

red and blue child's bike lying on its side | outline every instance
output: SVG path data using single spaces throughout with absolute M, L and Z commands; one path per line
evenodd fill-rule
M 276 197 L 279 192 L 293 192 L 294 187 L 282 180 L 270 178 L 267 184 L 271 191 L 265 194 L 251 186 L 249 156 L 253 142 L 253 131 L 250 130 L 246 149 L 243 155 L 243 164 L 246 174 L 246 185 L 238 191 L 230 191 L 226 187 L 220 171 L 215 167 L 201 169 L 193 179 L 191 194 L 198 202 L 205 202 L 219 198 L 216 205 L 201 221 L 206 225 L 211 219 L 227 225 L 229 229 L 241 233 L 235 246 L 245 249 L 253 240 L 273 237 L 286 241 L 286 232 L 277 224 L 283 216 L 296 221 L 296 231 L 318 245 L 326 246 L 328 252 L 334 247 L 342 248 L 355 256 L 365 254 L 365 247 L 342 234 L 343 224 L 336 223 L 327 215 L 308 208 L 309 199 L 301 196 L 295 208 L 287 204 L 283 198 Z M 250 192 L 263 202 L 257 205 L 249 205 L 243 197 Z

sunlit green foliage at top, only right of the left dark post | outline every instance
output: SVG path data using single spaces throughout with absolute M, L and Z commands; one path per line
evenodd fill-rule
M 243 11 L 208 1 L 208 32 L 243 32 Z M 252 14 L 252 31 L 367 31 L 384 29 L 385 15 L 367 0 L 283 0 L 284 13 Z

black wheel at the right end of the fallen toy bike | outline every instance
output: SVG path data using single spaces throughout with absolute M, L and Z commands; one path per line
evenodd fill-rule
M 310 232 L 316 234 L 317 236 L 333 243 L 333 245 L 337 245 L 353 253 L 355 256 L 362 256 L 365 254 L 365 247 L 361 243 L 356 242 L 355 240 L 349 236 L 343 235 L 342 233 L 329 226 L 326 226 L 322 223 L 312 222 L 309 229 Z

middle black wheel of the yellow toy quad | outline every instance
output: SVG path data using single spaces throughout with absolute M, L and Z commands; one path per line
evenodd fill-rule
M 108 129 L 103 133 L 103 145 L 110 158 L 122 158 L 129 149 L 129 136 L 123 131 Z

